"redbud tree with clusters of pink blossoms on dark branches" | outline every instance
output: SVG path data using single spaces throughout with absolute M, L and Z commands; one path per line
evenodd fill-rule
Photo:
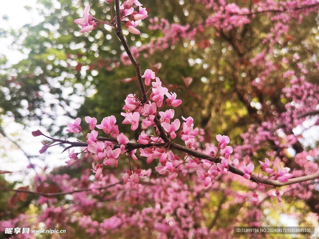
M 307 41 L 305 48 L 289 46 L 291 27 L 303 18 L 314 21 L 319 2 L 196 2 L 205 16 L 189 7 L 182 8 L 182 15 L 197 14 L 192 25 L 153 16 L 148 28 L 161 34 L 133 47 L 128 38 L 142 37 L 148 6 L 107 0 L 107 19 L 90 15 L 85 6 L 74 20 L 79 32 L 115 31 L 124 49 L 121 64 L 135 70 L 123 82 L 136 82 L 138 90 L 120 99 L 122 112 L 116 116 L 97 120 L 86 115 L 68 122 L 65 130 L 78 141 L 32 132 L 41 138 L 40 154 L 62 144 L 66 166 L 81 172 L 74 177 L 39 174 L 33 190 L 1 188 L 15 193 L 10 205 L 38 197 L 41 207 L 36 220 L 19 214 L 1 221 L 2 227 L 36 228 L 44 222 L 46 228 L 65 228 L 67 235 L 59 234 L 65 238 L 75 226 L 80 228 L 76 233 L 94 238 L 232 238 L 234 226 L 277 226 L 264 209 L 279 211 L 285 199 L 308 207 L 303 215 L 288 209 L 285 214 L 318 221 L 318 146 L 307 147 L 304 136 L 294 131 L 317 130 L 319 65 Z M 264 20 L 271 24 L 260 27 Z M 216 42 L 222 47 L 219 58 Z M 162 57 L 179 44 L 192 49 L 188 54 L 200 55 L 188 63 L 204 69 L 198 77 L 194 67 L 194 75 L 181 77 L 181 86 L 165 80 L 176 69 L 163 67 Z M 142 65 L 142 55 L 162 59 L 163 66 Z M 119 64 L 112 61 L 110 67 Z M 160 73 L 165 70 L 170 72 Z

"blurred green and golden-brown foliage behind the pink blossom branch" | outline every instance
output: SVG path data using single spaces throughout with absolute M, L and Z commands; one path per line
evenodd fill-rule
M 92 6 L 90 13 L 95 18 L 108 21 L 110 6 L 97 0 L 40 2 L 50 9 L 49 14 L 48 10 L 39 10 L 45 16 L 44 22 L 3 34 L 15 36 L 18 42 L 25 33 L 26 38 L 19 48 L 29 53 L 26 59 L 8 67 L 6 59 L 2 58 L 1 113 L 11 114 L 21 123 L 39 119 L 52 134 L 60 136 L 63 128 L 54 125 L 61 125 L 56 122 L 56 113 L 63 110 L 64 115 L 72 119 L 84 119 L 88 115 L 100 122 L 106 116 L 115 115 L 118 122 L 121 121 L 125 96 L 139 94 L 136 81 L 128 84 L 120 81 L 134 77 L 134 69 L 120 62 L 123 48 L 112 29 L 106 30 L 99 25 L 96 30 L 82 34 L 73 23 L 86 4 Z M 170 23 L 189 24 L 190 30 L 203 23 L 212 11 L 203 9 L 202 4 L 185 0 L 145 1 L 143 4 L 150 18 L 158 16 Z M 249 3 L 241 5 L 249 6 Z M 312 30 L 317 27 L 315 13 L 310 13 L 301 24 L 292 21 L 290 24 L 294 27 L 290 27 L 289 35 L 274 45 L 274 51 L 278 50 L 279 54 L 266 55 L 268 60 L 278 62 L 278 68 L 271 72 L 264 89 L 256 89 L 251 82 L 264 66 L 255 67 L 249 60 L 269 47 L 262 44 L 262 40 L 273 24 L 266 14 L 258 14 L 243 28 L 230 31 L 205 29 L 192 40 L 180 38 L 153 54 L 142 51 L 137 59 L 142 71 L 150 68 L 150 64 L 162 64 L 157 76 L 183 100 L 176 117 L 190 115 L 197 127 L 213 134 L 223 132 L 231 136 L 234 143 L 240 143 L 239 135 L 246 132 L 249 124 L 271 116 L 269 111 L 266 112 L 267 108 L 274 105 L 278 111 L 284 109 L 279 97 L 286 82 L 280 76 L 287 69 L 282 67 L 281 59 L 292 58 L 292 54 L 298 52 L 306 61 L 309 54 L 318 51 L 317 31 Z M 149 30 L 148 25 L 146 19 L 139 27 L 142 34 L 126 35 L 129 46 L 145 45 L 163 35 L 159 30 Z M 284 55 L 280 51 L 282 42 L 286 42 L 289 49 Z M 309 72 L 313 72 L 310 81 L 318 80 L 314 63 L 311 65 L 308 61 L 306 65 Z M 192 77 L 189 89 L 182 77 Z M 46 96 L 48 94 L 52 96 Z M 76 111 L 72 110 L 74 107 L 69 108 L 74 99 L 72 96 L 84 98 L 84 102 L 79 100 Z M 265 107 L 266 101 L 270 106 Z M 256 103 L 263 107 L 252 106 Z M 47 120 L 44 122 L 43 118 Z M 121 131 L 130 133 L 128 126 L 120 124 L 120 127 Z

